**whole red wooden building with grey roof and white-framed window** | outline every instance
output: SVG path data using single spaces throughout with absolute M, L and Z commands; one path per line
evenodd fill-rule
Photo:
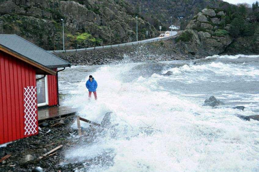
M 38 106 L 58 105 L 57 68 L 70 66 L 17 35 L 0 34 L 0 144 L 38 134 Z

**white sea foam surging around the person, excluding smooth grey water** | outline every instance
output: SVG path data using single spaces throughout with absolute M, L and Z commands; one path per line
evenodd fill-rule
M 93 98 L 88 101 L 87 77 L 78 83 L 78 88 L 66 100 L 67 105 L 80 108 L 80 116 L 98 123 L 106 112 L 111 111 L 114 114 L 112 123 L 119 123 L 118 131 L 123 126 L 128 126 L 128 129 L 118 132 L 115 138 L 105 135 L 96 144 L 78 145 L 66 150 L 67 162 L 74 163 L 77 157 L 80 161 L 91 162 L 93 158 L 105 155 L 111 159 L 85 164 L 85 168 L 78 171 L 259 170 L 258 123 L 235 116 L 236 113 L 249 115 L 253 113 L 251 109 L 240 111 L 224 106 L 213 109 L 202 106 L 204 99 L 200 100 L 198 93 L 196 95 L 199 96 L 192 98 L 173 95 L 161 85 L 161 81 L 176 82 L 175 79 L 181 84 L 188 80 L 197 82 L 199 78 L 211 80 L 216 75 L 257 77 L 258 74 L 248 67 L 242 69 L 232 64 L 213 62 L 172 68 L 173 76 L 169 77 L 152 74 L 127 80 L 127 77 L 130 78 L 127 71 L 136 65 L 107 65 L 92 72 L 98 82 L 97 101 Z M 181 91 L 185 89 L 188 88 Z M 140 127 L 147 127 L 143 122 L 162 132 L 151 135 L 141 133 Z M 81 125 L 88 126 L 86 123 Z

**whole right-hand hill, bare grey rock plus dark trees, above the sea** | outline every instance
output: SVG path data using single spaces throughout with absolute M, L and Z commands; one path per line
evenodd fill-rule
M 193 55 L 258 54 L 258 22 L 259 6 L 206 8 L 193 17 L 177 41 Z

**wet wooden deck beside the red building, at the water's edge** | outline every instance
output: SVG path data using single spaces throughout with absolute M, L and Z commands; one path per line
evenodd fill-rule
M 38 120 L 45 120 L 57 116 L 73 115 L 77 113 L 77 109 L 70 106 L 53 106 L 38 109 Z

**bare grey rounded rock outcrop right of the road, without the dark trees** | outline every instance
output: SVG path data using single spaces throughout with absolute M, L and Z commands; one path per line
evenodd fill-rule
M 229 35 L 229 24 L 225 24 L 226 13 L 218 9 L 203 9 L 177 39 L 185 52 L 212 56 L 225 51 L 233 39 Z

